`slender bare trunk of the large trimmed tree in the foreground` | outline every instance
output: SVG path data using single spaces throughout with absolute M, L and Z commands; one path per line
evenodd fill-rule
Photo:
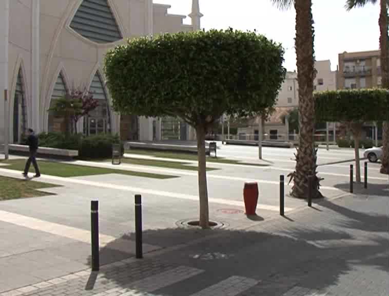
M 200 227 L 209 228 L 208 213 L 208 191 L 207 191 L 207 171 L 205 155 L 205 129 L 203 126 L 196 127 L 197 150 L 199 160 L 199 197 L 200 197 Z

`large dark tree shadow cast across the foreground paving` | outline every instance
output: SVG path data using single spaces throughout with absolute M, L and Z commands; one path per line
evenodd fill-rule
M 332 207 L 329 204 L 330 202 L 325 206 Z M 341 211 L 338 208 L 331 209 Z M 374 225 L 373 229 L 381 222 L 380 217 L 377 220 L 377 217 L 368 215 L 359 217 L 355 213 L 345 214 L 353 219 L 367 218 L 367 223 Z M 183 231 L 193 233 L 191 229 L 179 228 L 147 230 L 144 232 L 144 243 L 177 237 Z M 378 238 L 371 244 L 358 244 L 356 241 L 350 246 L 342 242 L 353 239 L 353 236 L 345 231 L 326 228 L 313 231 L 295 227 L 278 234 L 223 228 L 200 232 L 201 238 L 187 241 L 179 249 L 154 250 L 145 253 L 142 260 L 130 259 L 102 268 L 94 289 L 99 289 L 104 282 L 145 293 L 182 295 L 182 291 L 185 291 L 189 295 L 230 276 L 239 275 L 258 281 L 271 281 L 278 287 L 288 283 L 280 291 L 283 294 L 294 285 L 316 290 L 336 285 L 340 276 L 350 272 L 354 264 L 388 270 L 383 260 L 387 256 L 387 239 L 384 238 Z M 125 239 L 128 244 L 134 245 L 128 237 L 132 238 L 134 234 L 129 233 L 107 244 L 101 250 L 102 256 L 108 252 L 118 253 L 116 257 L 120 257 L 123 250 L 118 249 L 118 244 L 121 244 L 118 241 Z M 327 245 L 321 245 L 321 242 Z M 134 249 L 130 246 L 128 248 Z M 127 257 L 133 255 L 127 253 Z M 90 263 L 90 258 L 88 262 Z M 139 282 L 145 278 L 154 279 L 154 275 L 182 266 L 202 272 L 190 279 L 177 282 L 173 280 L 155 290 L 150 290 Z

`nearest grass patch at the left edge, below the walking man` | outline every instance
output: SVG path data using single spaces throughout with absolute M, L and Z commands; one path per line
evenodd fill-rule
M 0 176 L 0 184 L 2 184 L 0 186 L 0 200 L 52 195 L 51 193 L 37 191 L 36 189 L 58 187 L 53 184 L 3 176 Z

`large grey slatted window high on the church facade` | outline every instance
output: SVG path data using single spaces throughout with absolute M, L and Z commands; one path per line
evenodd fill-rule
M 122 39 L 107 0 L 84 0 L 75 13 L 70 28 L 97 43 L 111 43 Z

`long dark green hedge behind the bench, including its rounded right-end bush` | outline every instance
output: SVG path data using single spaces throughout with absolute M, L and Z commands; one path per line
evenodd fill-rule
M 70 135 L 68 138 L 63 133 L 41 133 L 38 135 L 41 147 L 56 149 L 77 150 L 80 158 L 110 158 L 112 157 L 112 144 L 121 144 L 122 153 L 124 145 L 119 136 L 95 135 L 85 137 L 82 134 Z M 26 142 L 24 142 L 25 144 Z

